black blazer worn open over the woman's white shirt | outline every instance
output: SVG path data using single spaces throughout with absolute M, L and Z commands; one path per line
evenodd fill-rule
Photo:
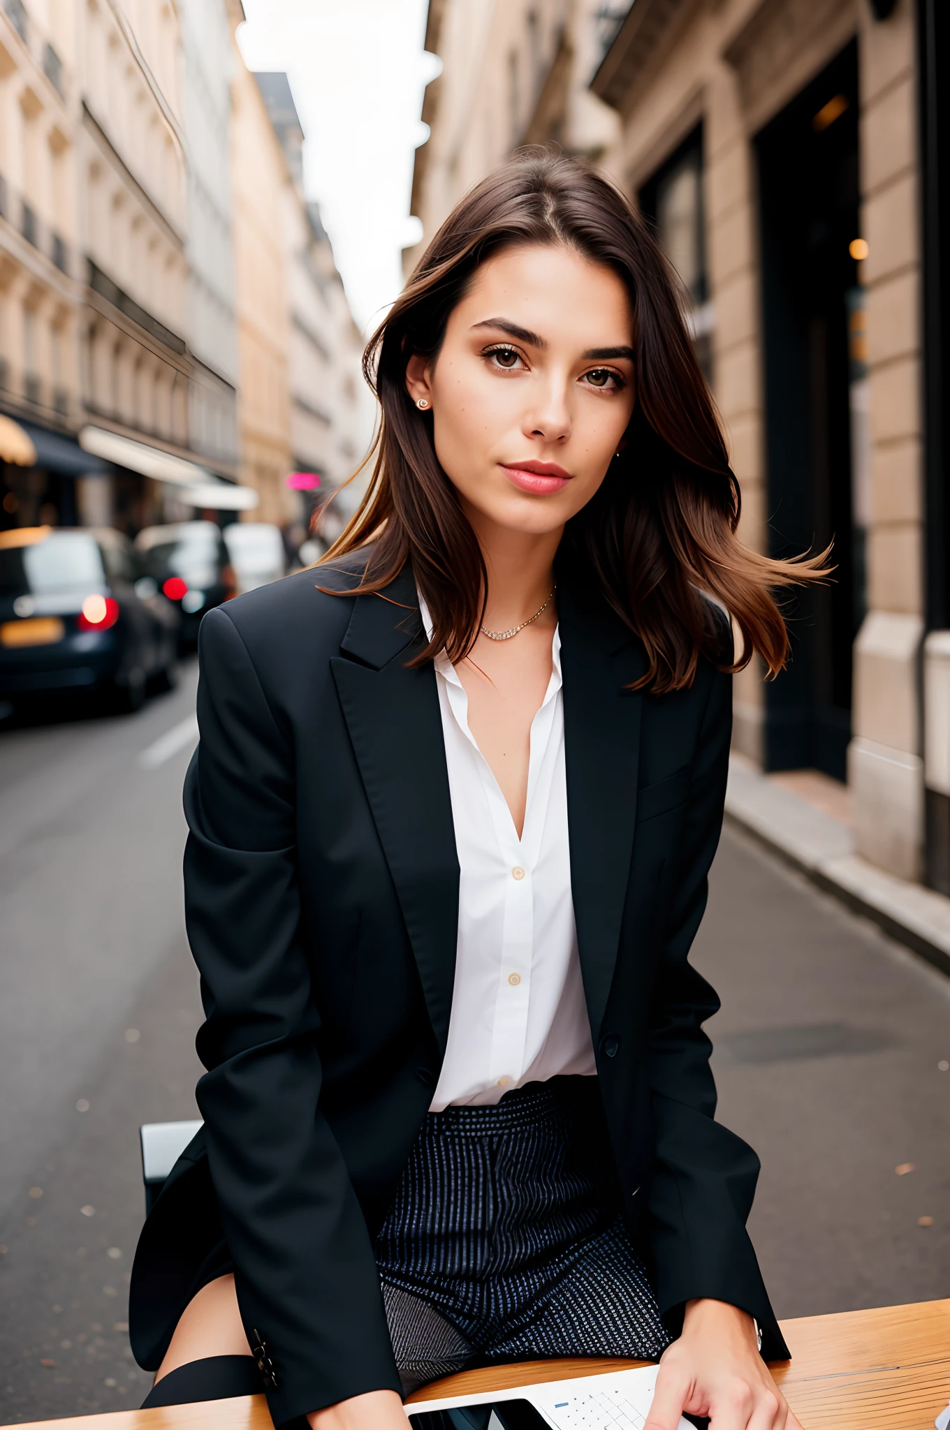
M 438 1081 L 459 869 L 412 572 L 338 596 L 365 562 L 305 571 L 209 612 L 200 745 L 185 785 L 187 931 L 206 1022 L 205 1127 L 146 1221 L 136 1360 L 155 1369 L 216 1241 L 276 1424 L 399 1390 L 373 1236 Z M 723 821 L 731 681 L 625 686 L 642 648 L 558 588 L 571 885 L 605 1127 L 627 1220 L 677 1328 L 691 1297 L 750 1311 L 787 1354 L 745 1231 L 758 1161 L 712 1120 L 687 955 Z

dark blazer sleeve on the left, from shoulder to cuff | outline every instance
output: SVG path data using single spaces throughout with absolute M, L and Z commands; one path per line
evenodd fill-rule
M 223 609 L 200 626 L 187 772 L 187 934 L 206 1022 L 197 1084 L 249 1341 L 275 1424 L 399 1390 L 373 1250 L 320 1113 L 319 1010 L 300 944 L 293 749 Z

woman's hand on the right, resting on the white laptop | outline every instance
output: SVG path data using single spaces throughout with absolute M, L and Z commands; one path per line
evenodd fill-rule
M 710 1430 L 801 1430 L 758 1354 L 753 1317 L 725 1301 L 687 1304 L 644 1430 L 677 1430 L 684 1411 L 708 1416 Z

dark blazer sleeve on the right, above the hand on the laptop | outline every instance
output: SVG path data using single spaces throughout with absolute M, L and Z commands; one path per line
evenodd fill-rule
M 671 907 L 658 950 L 648 1030 L 655 1137 L 648 1211 L 667 1326 L 678 1333 L 688 1300 L 728 1301 L 755 1317 L 763 1356 L 777 1360 L 788 1350 L 745 1230 L 760 1164 L 751 1147 L 714 1121 L 712 1045 L 702 1022 L 718 1011 L 720 1001 L 688 961 L 723 827 L 731 685 L 730 676 L 711 674 Z

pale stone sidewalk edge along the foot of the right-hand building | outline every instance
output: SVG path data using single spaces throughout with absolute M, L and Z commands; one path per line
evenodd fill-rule
M 950 899 L 860 858 L 850 827 L 827 807 L 817 808 L 733 755 L 725 818 L 950 975 Z

